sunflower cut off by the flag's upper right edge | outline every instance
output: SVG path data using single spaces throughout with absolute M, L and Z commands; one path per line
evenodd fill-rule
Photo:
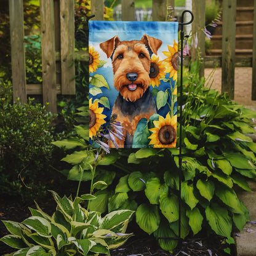
M 178 71 L 178 44 L 174 40 L 174 47 L 168 46 L 169 52 L 162 52 L 167 56 L 164 59 L 164 63 L 167 66 L 166 73 L 170 73 L 170 78 L 174 81 L 177 80 L 177 71 Z

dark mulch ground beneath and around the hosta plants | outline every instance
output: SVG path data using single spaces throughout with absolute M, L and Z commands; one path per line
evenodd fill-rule
M 49 197 L 47 201 L 39 202 L 42 210 L 48 214 L 52 214 L 56 204 L 54 199 Z M 25 218 L 30 217 L 28 207 L 34 205 L 24 204 L 17 198 L 1 198 L 0 199 L 0 220 L 13 220 L 22 222 Z M 223 249 L 227 246 L 222 244 L 223 239 L 219 236 L 207 237 L 207 234 L 200 234 L 199 237 L 186 239 L 179 242 L 177 248 L 172 254 L 166 252 L 158 246 L 157 241 L 148 234 L 140 230 L 136 223 L 130 223 L 128 233 L 134 233 L 135 236 L 130 238 L 126 244 L 116 250 L 111 251 L 111 256 L 226 256 Z M 8 234 L 4 224 L 0 222 L 0 238 Z M 233 250 L 233 248 L 231 248 Z M 0 242 L 0 255 L 14 252 L 9 246 Z M 231 255 L 235 255 L 231 252 Z

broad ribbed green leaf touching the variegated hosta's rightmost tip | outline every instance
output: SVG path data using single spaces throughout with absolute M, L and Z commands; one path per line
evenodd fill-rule
M 158 229 L 160 220 L 161 217 L 156 205 L 141 204 L 136 211 L 136 222 L 148 234 L 152 234 Z

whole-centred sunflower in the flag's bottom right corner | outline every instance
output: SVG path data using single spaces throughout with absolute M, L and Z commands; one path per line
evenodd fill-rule
M 170 113 L 166 119 L 159 116 L 159 121 L 154 121 L 154 128 L 150 129 L 153 134 L 150 135 L 149 145 L 154 148 L 174 148 L 177 142 L 177 116 L 170 118 Z

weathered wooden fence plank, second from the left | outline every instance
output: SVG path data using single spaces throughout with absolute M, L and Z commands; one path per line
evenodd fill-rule
M 54 36 L 54 2 L 40 1 L 42 44 L 42 101 L 50 103 L 49 110 L 57 113 L 56 63 Z

